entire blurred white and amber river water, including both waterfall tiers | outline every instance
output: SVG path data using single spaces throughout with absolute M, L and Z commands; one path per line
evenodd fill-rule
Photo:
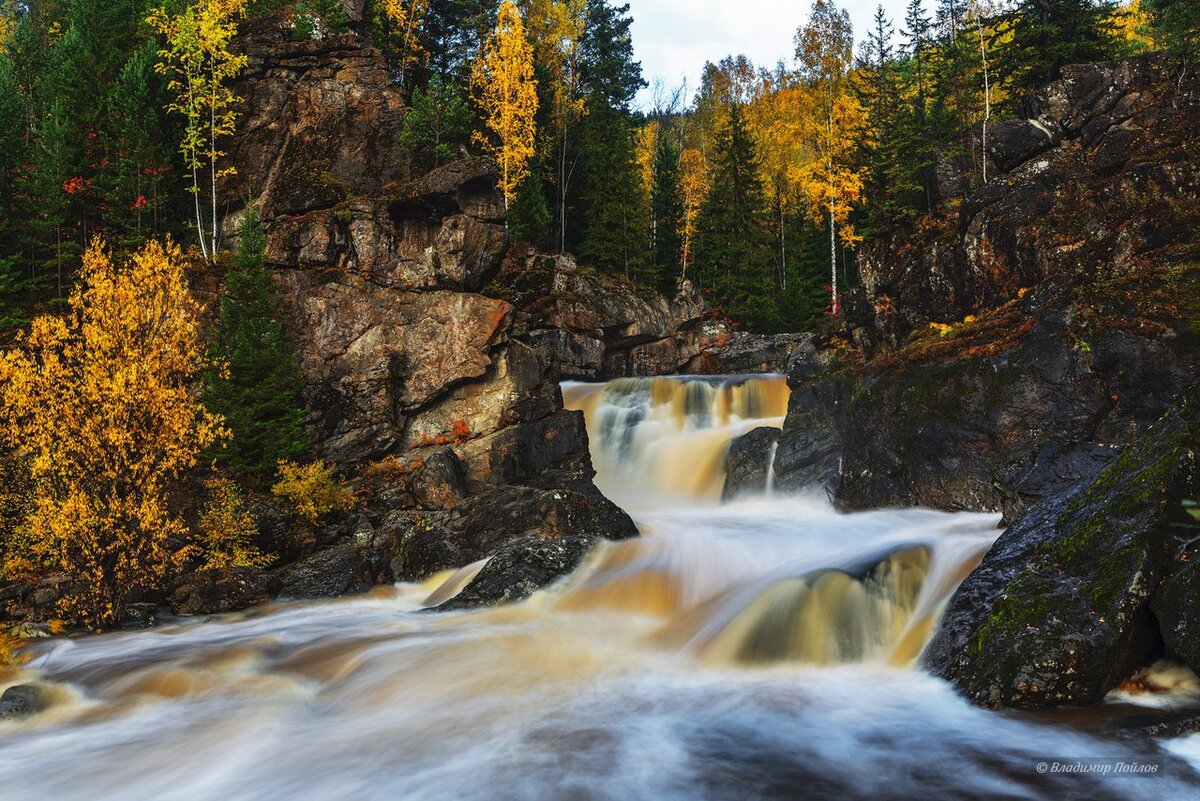
M 989 712 L 916 667 L 995 516 L 720 502 L 731 438 L 782 422 L 781 378 L 564 397 L 643 537 L 505 608 L 421 612 L 468 568 L 40 645 L 20 680 L 55 700 L 0 723 L 0 797 L 1200 797 L 1195 740 Z M 1194 703 L 1182 683 L 1162 703 Z M 1074 759 L 1157 769 L 1038 767 Z

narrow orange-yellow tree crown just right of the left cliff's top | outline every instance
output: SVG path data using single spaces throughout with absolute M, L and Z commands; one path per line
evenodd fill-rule
M 512 0 L 500 4 L 496 31 L 472 68 L 470 91 L 491 132 L 476 134 L 476 141 L 500 168 L 499 189 L 508 206 L 529 171 L 538 114 L 533 47 Z

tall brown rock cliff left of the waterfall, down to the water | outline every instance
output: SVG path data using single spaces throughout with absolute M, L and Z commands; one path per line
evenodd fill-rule
M 241 46 L 245 113 L 224 195 L 250 195 L 262 215 L 317 448 L 364 506 L 300 547 L 276 532 L 288 560 L 269 585 L 188 577 L 179 609 L 358 592 L 488 555 L 487 589 L 469 597 L 512 600 L 569 571 L 596 538 L 636 534 L 592 484 L 582 415 L 563 409 L 544 329 L 530 330 L 500 275 L 494 165 L 466 158 L 415 174 L 398 140 L 401 92 L 358 36 L 293 42 L 265 19 Z M 649 325 L 701 314 L 661 306 Z M 571 314 L 582 307 L 556 319 Z M 630 347 L 643 337 L 623 336 Z

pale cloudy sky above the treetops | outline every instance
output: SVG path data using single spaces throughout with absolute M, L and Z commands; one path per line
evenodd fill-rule
M 660 79 L 678 86 L 688 79 L 688 98 L 700 85 L 704 61 L 744 53 L 757 65 L 791 62 L 796 29 L 808 19 L 808 0 L 626 0 L 634 17 L 634 50 L 650 86 Z M 854 43 L 866 38 L 866 28 L 881 0 L 841 0 L 854 24 Z M 907 0 L 882 0 L 899 34 Z M 934 0 L 925 4 L 931 14 Z M 650 103 L 652 89 L 642 90 L 640 104 Z

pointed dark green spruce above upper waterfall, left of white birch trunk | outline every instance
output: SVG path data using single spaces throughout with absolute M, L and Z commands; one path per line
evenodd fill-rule
M 754 140 L 737 103 L 730 107 L 728 125 L 718 138 L 712 169 L 712 189 L 696 224 L 701 287 L 733 319 L 769 330 L 776 317 L 766 195 Z

